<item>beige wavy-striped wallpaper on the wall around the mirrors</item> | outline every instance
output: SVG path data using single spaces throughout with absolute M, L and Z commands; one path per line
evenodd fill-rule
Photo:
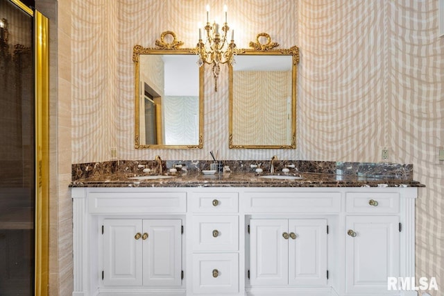
M 110 6 L 110 3 L 112 5 Z M 132 49 L 172 30 L 194 47 L 197 22 L 228 5 L 238 47 L 266 32 L 300 47 L 295 150 L 228 149 L 228 72 L 205 77 L 204 149 L 136 150 Z M 417 202 L 417 277 L 444 289 L 444 38 L 438 0 L 73 0 L 72 159 L 278 158 L 413 163 L 427 188 Z M 432 293 L 432 295 L 440 295 Z

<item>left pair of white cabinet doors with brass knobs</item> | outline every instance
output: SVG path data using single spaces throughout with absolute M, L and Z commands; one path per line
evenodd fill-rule
M 105 219 L 104 286 L 181 286 L 182 220 Z

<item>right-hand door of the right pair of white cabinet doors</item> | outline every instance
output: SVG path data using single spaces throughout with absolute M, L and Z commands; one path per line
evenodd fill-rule
M 289 220 L 289 284 L 327 284 L 327 220 Z

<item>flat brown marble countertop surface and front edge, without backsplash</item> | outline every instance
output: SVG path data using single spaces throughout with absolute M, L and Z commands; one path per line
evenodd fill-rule
M 280 173 L 282 175 L 282 173 Z M 264 179 L 255 173 L 202 174 L 199 172 L 174 174 L 168 179 L 128 179 L 148 174 L 101 174 L 78 179 L 71 187 L 424 187 L 418 181 L 397 176 L 359 176 L 352 174 L 324 174 L 298 172 L 290 174 L 302 179 Z M 266 174 L 262 174 L 266 175 Z

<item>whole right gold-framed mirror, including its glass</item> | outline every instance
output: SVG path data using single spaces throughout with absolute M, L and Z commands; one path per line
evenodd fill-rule
M 229 65 L 230 149 L 296 148 L 299 49 L 278 46 L 260 33 Z

